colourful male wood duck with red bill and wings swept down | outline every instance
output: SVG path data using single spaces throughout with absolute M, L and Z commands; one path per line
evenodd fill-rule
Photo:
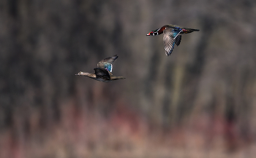
M 167 24 L 158 28 L 157 30 L 151 31 L 146 36 L 157 36 L 164 33 L 164 46 L 165 54 L 169 56 L 173 52 L 174 44 L 177 46 L 181 43 L 181 34 L 191 33 L 193 31 L 199 31 L 193 28 L 184 28 L 178 25 Z

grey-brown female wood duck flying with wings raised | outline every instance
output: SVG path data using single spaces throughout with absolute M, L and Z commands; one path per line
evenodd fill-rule
M 88 76 L 91 79 L 95 79 L 100 82 L 110 82 L 117 79 L 125 79 L 123 76 L 113 76 L 110 72 L 113 69 L 113 63 L 118 58 L 117 55 L 113 57 L 105 58 L 97 63 L 97 68 L 94 68 L 94 73 L 87 73 L 80 71 L 78 76 Z

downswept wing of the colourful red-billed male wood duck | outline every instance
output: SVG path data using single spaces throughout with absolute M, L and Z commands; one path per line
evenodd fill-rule
M 174 44 L 178 45 L 181 42 L 181 36 L 178 35 L 181 31 L 181 29 L 165 29 L 163 37 L 165 55 L 169 56 L 173 52 Z

